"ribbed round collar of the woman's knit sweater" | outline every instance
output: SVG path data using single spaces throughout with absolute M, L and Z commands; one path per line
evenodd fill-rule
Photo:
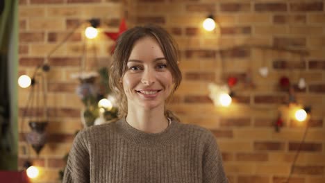
M 147 133 L 142 132 L 129 125 L 125 118 L 119 119 L 116 122 L 117 129 L 124 138 L 128 141 L 136 143 L 140 146 L 162 146 L 172 143 L 179 134 L 178 121 L 172 119 L 172 123 L 163 132 L 159 133 Z

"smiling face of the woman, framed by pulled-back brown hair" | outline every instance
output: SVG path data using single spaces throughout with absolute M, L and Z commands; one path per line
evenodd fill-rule
M 173 78 L 158 42 L 143 37 L 133 45 L 122 78 L 128 108 L 163 107 L 172 92 Z

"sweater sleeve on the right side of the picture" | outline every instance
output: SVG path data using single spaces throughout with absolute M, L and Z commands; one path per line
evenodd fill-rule
M 214 135 L 209 132 L 203 152 L 203 183 L 228 183 L 222 166 L 222 155 Z

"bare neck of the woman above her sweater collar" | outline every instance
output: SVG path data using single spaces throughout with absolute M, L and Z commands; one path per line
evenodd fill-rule
M 166 119 L 164 109 L 160 107 L 144 110 L 140 107 L 128 106 L 126 121 L 133 128 L 147 133 L 163 132 L 168 127 L 169 121 Z

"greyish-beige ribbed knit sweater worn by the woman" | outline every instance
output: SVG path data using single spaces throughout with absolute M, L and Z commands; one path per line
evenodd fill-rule
M 213 134 L 175 120 L 149 134 L 120 119 L 76 135 L 63 182 L 226 183 Z

